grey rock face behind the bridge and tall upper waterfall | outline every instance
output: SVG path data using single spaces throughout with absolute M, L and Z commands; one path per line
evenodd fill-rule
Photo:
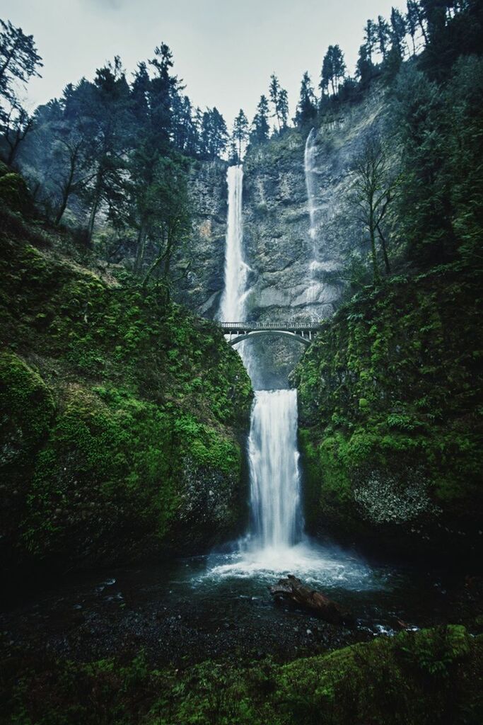
M 261 146 L 251 146 L 243 163 L 243 240 L 251 320 L 321 320 L 337 308 L 343 270 L 360 247 L 361 230 L 350 205 L 350 168 L 364 138 L 383 120 L 381 94 L 326 117 L 312 132 L 306 175 L 306 141 L 311 128 L 290 129 Z M 180 299 L 214 318 L 224 279 L 227 165 L 200 162 L 193 170 L 194 233 L 185 258 L 190 273 Z M 307 183 L 308 182 L 308 183 Z M 303 347 L 280 339 L 251 341 L 262 386 L 287 386 L 287 375 Z M 257 384 L 259 381 L 257 381 Z

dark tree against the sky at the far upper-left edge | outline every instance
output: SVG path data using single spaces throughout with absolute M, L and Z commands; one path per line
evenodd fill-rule
M 25 86 L 33 75 L 40 77 L 41 61 L 33 36 L 26 36 L 22 28 L 0 20 L 0 128 L 9 148 L 8 164 L 33 128 L 33 117 L 23 108 L 18 88 Z

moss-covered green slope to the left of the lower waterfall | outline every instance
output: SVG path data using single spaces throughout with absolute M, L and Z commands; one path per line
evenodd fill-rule
M 251 384 L 205 320 L 1 234 L 1 559 L 195 551 L 244 516 Z M 17 229 L 17 231 L 14 231 Z

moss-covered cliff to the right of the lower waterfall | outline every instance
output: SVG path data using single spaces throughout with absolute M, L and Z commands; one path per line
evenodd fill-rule
M 303 357 L 312 529 L 481 545 L 482 276 L 457 263 L 358 294 Z

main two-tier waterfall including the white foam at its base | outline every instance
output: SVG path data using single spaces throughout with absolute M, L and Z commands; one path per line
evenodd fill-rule
M 250 268 L 243 255 L 243 168 L 229 167 L 224 293 L 219 319 L 245 317 Z M 313 196 L 312 196 L 313 198 Z M 256 367 L 250 341 L 237 347 L 250 374 Z M 303 534 L 301 474 L 297 447 L 297 391 L 256 390 L 248 439 L 251 523 L 238 551 L 213 566 L 209 576 L 265 576 L 298 573 L 313 581 L 345 581 L 364 587 L 368 571 L 339 550 L 309 542 Z M 227 563 L 226 563 L 227 562 Z

